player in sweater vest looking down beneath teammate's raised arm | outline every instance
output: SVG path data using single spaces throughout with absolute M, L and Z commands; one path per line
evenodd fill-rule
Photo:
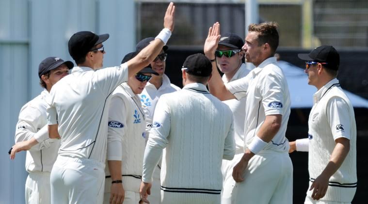
M 122 63 L 137 55 L 127 54 Z M 110 96 L 104 204 L 138 204 L 145 147 L 145 116 L 138 94 L 153 74 L 149 64 Z

